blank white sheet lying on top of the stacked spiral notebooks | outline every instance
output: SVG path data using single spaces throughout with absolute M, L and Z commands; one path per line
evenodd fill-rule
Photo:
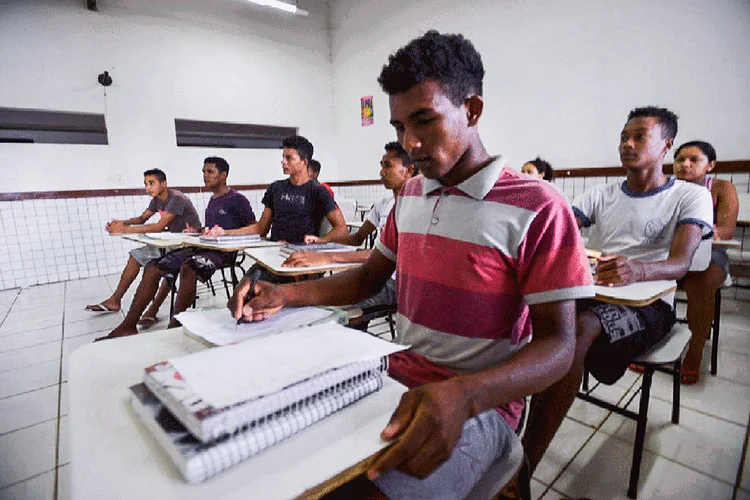
M 201 398 L 222 408 L 277 392 L 332 368 L 406 348 L 325 323 L 207 349 L 169 362 Z

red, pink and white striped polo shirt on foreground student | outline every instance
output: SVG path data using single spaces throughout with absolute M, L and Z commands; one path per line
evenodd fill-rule
M 505 163 L 453 187 L 410 180 L 377 242 L 396 262 L 396 342 L 411 349 L 391 374 L 407 386 L 496 366 L 531 339 L 529 305 L 594 295 L 565 199 Z

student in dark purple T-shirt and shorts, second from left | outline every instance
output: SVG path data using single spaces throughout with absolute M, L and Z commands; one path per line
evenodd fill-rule
M 229 163 L 224 158 L 210 156 L 203 163 L 203 184 L 212 193 L 206 206 L 206 227 L 221 225 L 226 228 L 243 227 L 255 222 L 255 214 L 250 202 L 238 191 L 227 186 Z M 186 227 L 186 232 L 199 232 L 200 221 L 196 226 Z M 197 280 L 208 281 L 219 267 L 229 263 L 231 252 L 206 250 L 197 247 L 180 248 L 164 257 L 154 259 L 146 265 L 135 298 L 125 319 L 106 338 L 123 337 L 138 333 L 137 324 L 143 310 L 154 298 L 159 280 L 167 275 L 180 275 L 180 285 L 175 298 L 174 313 L 186 310 L 195 300 Z M 170 327 L 179 323 L 170 322 Z

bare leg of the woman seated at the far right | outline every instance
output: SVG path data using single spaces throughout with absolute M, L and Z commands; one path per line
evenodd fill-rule
M 682 362 L 686 376 L 693 383 L 698 381 L 703 360 L 703 347 L 711 333 L 714 319 L 714 295 L 724 281 L 724 270 L 711 264 L 701 272 L 685 275 L 684 285 L 687 294 L 687 319 L 691 337 L 688 352 Z

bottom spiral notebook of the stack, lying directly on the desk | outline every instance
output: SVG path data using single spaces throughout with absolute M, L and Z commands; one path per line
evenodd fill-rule
M 144 384 L 130 388 L 131 406 L 189 483 L 199 483 L 273 446 L 383 386 L 362 375 L 256 420 L 210 443 L 198 440 Z M 293 457 L 290 457 L 293 459 Z

